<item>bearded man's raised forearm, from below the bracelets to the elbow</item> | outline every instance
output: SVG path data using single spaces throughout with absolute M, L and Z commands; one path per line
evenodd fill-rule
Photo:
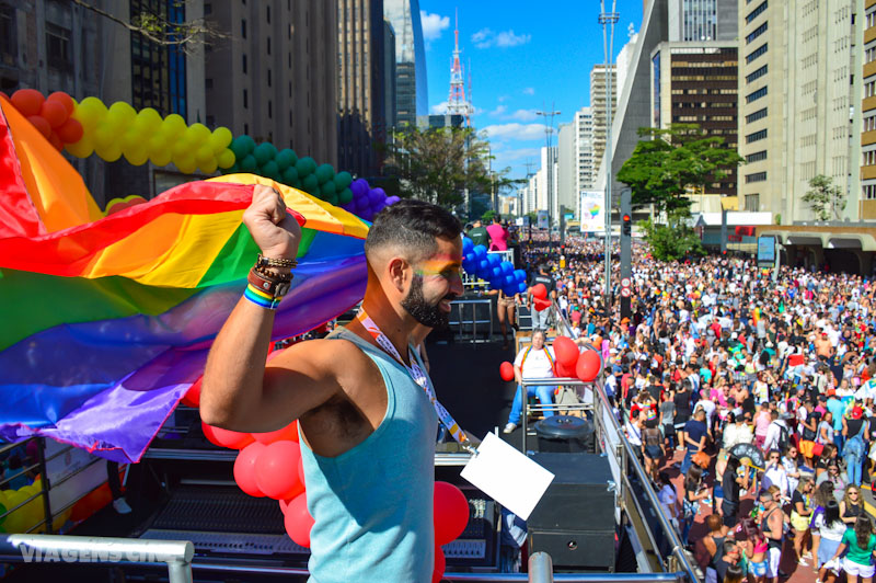
M 258 407 L 274 310 L 241 298 L 207 357 L 200 397 L 205 423 L 234 428 Z

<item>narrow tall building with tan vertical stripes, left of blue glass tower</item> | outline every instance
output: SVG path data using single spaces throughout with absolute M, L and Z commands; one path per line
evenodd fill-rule
M 337 165 L 380 173 L 387 141 L 383 0 L 337 0 Z

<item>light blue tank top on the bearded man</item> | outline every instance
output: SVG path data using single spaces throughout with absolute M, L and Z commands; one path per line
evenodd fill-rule
M 313 583 L 431 581 L 438 416 L 426 392 L 390 355 L 346 329 L 380 369 L 387 414 L 362 443 L 327 458 L 301 439 Z M 412 354 L 414 351 L 412 351 Z

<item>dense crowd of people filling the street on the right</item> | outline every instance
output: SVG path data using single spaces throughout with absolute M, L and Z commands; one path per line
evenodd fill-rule
M 876 284 L 802 266 L 774 281 L 746 258 L 667 264 L 641 248 L 621 318 L 602 241 L 543 239 L 520 242 L 530 285 L 602 352 L 607 393 L 706 580 L 776 582 L 797 563 L 818 583 L 869 583 Z M 615 297 L 619 279 L 615 267 Z

